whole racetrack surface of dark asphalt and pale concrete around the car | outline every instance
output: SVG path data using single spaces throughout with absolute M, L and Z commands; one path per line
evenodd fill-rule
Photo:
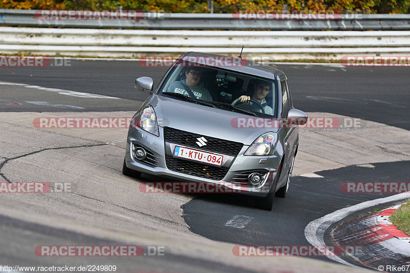
M 156 86 L 168 68 L 142 67 L 131 60 L 84 59 L 71 59 L 70 66 L 0 68 L 0 181 L 81 181 L 67 195 L 0 195 L 0 265 L 103 262 L 98 257 L 38 257 L 33 254 L 38 245 L 139 242 L 147 246 L 167 242 L 168 255 L 163 257 L 107 257 L 103 264 L 116 264 L 123 272 L 347 270 L 319 265 L 339 265 L 323 256 L 299 258 L 308 259 L 307 263 L 282 258 L 275 261 L 277 269 L 271 267 L 273 260 L 236 262 L 223 257 L 232 256 L 232 244 L 310 245 L 304 229 L 311 221 L 344 207 L 393 195 L 343 193 L 343 182 L 410 181 L 408 68 L 275 66 L 288 76 L 295 108 L 361 119 L 367 127 L 300 132 L 300 161 L 295 161 L 288 196 L 275 198 L 271 212 L 254 208 L 249 198 L 236 195 L 144 196 L 138 193 L 136 184 L 158 178 L 142 176 L 136 180 L 120 173 L 127 130 L 115 137 L 113 131 L 101 135 L 49 132 L 32 128 L 31 120 L 25 120 L 53 113 L 105 116 L 117 112 L 132 116 L 148 97 L 134 89 L 135 78 L 150 76 Z M 65 96 L 53 89 L 89 95 Z M 396 203 L 400 202 L 392 202 Z M 343 221 L 389 205 L 368 207 Z M 238 217 L 249 221 L 239 228 L 227 225 Z M 167 231 L 162 232 L 162 228 Z M 190 239 L 182 243 L 184 238 Z M 332 244 L 329 236 L 324 241 Z M 217 253 L 216 249 L 228 252 L 220 257 L 210 254 Z M 352 270 L 364 270 L 360 263 L 349 262 L 358 267 Z M 288 263 L 294 267 L 286 267 Z

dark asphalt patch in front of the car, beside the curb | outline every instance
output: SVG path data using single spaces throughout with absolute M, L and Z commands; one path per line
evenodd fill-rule
M 374 168 L 348 166 L 316 173 L 323 178 L 293 177 L 290 192 L 284 199 L 275 198 L 272 212 L 253 208 L 252 202 L 242 196 L 203 195 L 183 206 L 184 219 L 194 233 L 237 245 L 309 245 L 304 228 L 311 221 L 343 207 L 393 195 L 343 193 L 343 182 L 410 180 L 408 172 L 402 172 L 408 170 L 410 161 L 373 165 Z M 355 215 L 380 208 L 369 207 Z M 226 225 L 236 215 L 252 217 L 252 221 L 241 228 Z M 326 242 L 333 244 L 331 240 Z

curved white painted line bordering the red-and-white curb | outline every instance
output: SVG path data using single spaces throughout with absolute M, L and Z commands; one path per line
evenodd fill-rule
M 325 215 L 322 218 L 319 218 L 319 219 L 316 219 L 310 222 L 304 229 L 304 236 L 306 237 L 308 242 L 314 246 L 315 245 L 325 245 L 324 233 L 326 229 L 329 228 L 332 224 L 342 220 L 344 217 L 354 212 L 360 211 L 361 209 L 364 209 L 366 207 L 371 207 L 371 206 L 388 203 L 388 202 L 404 200 L 408 198 L 410 198 L 410 192 L 397 194 L 397 195 L 393 195 L 393 196 L 389 196 L 385 198 L 370 200 L 370 201 L 359 203 L 359 204 L 356 204 L 350 207 L 341 208 L 336 212 Z M 330 250 L 328 249 L 328 251 Z M 335 256 L 333 253 L 331 253 L 329 256 L 326 255 L 326 257 L 336 262 L 345 264 L 345 265 L 350 265 L 356 268 L 360 268 L 356 265 L 353 265 L 351 263 L 348 263 L 342 260 L 341 258 Z

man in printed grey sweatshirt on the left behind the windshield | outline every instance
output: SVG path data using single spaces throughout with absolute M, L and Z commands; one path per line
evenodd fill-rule
M 195 98 L 198 100 L 212 101 L 212 96 L 209 91 L 203 87 L 203 83 L 200 82 L 203 70 L 197 67 L 189 67 L 185 70 L 185 77 L 180 80 L 174 81 L 168 87 L 168 92 L 179 93 L 182 95 L 189 95 L 187 90 L 194 93 Z

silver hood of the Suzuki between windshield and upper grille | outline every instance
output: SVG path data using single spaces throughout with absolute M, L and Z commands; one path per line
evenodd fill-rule
M 147 104 L 154 108 L 160 127 L 171 127 L 245 145 L 251 145 L 264 133 L 278 131 L 276 128 L 237 128 L 237 118 L 245 120 L 242 122 L 248 122 L 249 118 L 256 119 L 256 117 L 175 98 L 153 95 Z

